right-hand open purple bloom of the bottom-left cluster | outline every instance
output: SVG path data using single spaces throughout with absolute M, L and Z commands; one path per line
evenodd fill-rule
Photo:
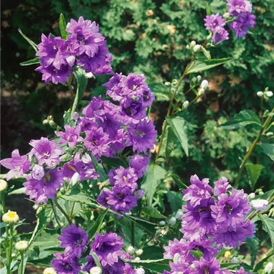
M 102 266 L 109 264 L 114 265 L 119 261 L 119 256 L 122 255 L 120 250 L 123 247 L 123 239 L 119 238 L 116 233 L 95 234 L 95 238 L 90 245 L 90 248 L 98 256 Z

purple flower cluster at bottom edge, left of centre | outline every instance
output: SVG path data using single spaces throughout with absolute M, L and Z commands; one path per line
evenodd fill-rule
M 89 272 L 97 266 L 94 257 L 86 256 L 86 251 L 95 253 L 102 267 L 102 273 L 136 274 L 129 264 L 122 259 L 130 259 L 129 254 L 122 251 L 123 239 L 115 233 L 95 234 L 95 238 L 88 245 L 88 235 L 82 227 L 71 226 L 62 229 L 58 238 L 64 253 L 55 253 L 51 261 L 57 273 L 77 274 L 80 271 Z

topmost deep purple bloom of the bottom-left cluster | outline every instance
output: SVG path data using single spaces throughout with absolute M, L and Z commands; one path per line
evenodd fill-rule
M 73 223 L 71 226 L 67 226 L 62 229 L 62 236 L 58 237 L 66 255 L 73 254 L 77 258 L 80 258 L 83 251 L 86 249 L 88 243 L 88 235 L 82 229 L 82 227 L 76 227 Z

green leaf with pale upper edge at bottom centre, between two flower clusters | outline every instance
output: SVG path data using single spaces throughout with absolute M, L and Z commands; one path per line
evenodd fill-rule
M 160 260 L 126 260 L 125 262 L 129 262 L 132 266 L 143 267 L 153 273 L 163 273 L 165 270 L 169 271 L 169 260 L 160 259 Z

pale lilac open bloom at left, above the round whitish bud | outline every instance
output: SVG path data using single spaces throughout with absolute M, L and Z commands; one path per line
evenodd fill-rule
M 40 140 L 31 140 L 29 145 L 34 147 L 31 151 L 38 160 L 38 164 L 46 164 L 50 168 L 54 168 L 60 163 L 59 156 L 64 153 L 63 149 L 58 147 L 54 140 L 48 138 L 40 138 Z

